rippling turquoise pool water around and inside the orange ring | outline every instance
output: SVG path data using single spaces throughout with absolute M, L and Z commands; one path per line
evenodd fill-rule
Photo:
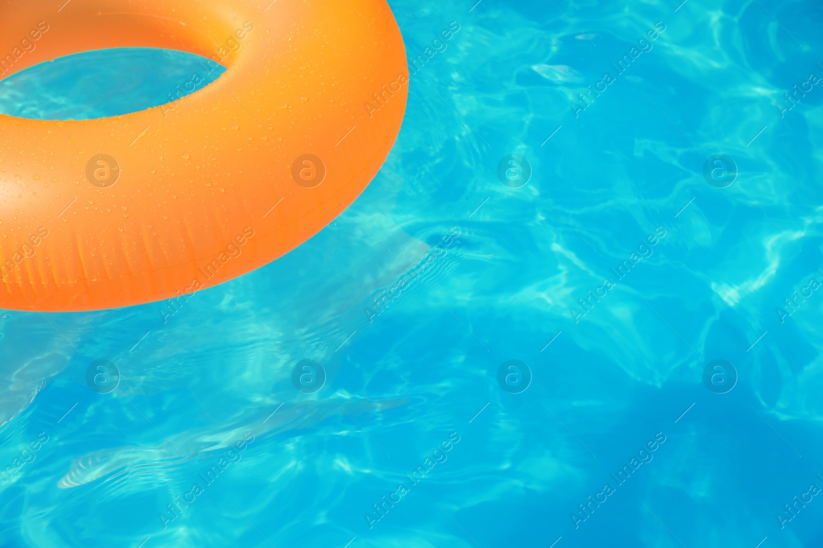
M 821 4 L 390 3 L 436 53 L 316 237 L 165 323 L 3 312 L 0 545 L 823 545 Z

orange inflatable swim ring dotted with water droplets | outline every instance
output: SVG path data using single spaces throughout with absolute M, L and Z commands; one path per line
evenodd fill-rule
M 0 115 L 0 308 L 190 294 L 291 251 L 360 195 L 406 109 L 397 22 L 385 0 L 269 2 L 0 0 L 2 77 L 124 47 L 226 67 L 124 116 Z

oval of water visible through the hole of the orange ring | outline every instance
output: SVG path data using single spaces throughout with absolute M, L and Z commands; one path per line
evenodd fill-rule
M 0 113 L 35 120 L 120 116 L 173 103 L 225 71 L 211 59 L 172 49 L 75 53 L 0 81 Z

